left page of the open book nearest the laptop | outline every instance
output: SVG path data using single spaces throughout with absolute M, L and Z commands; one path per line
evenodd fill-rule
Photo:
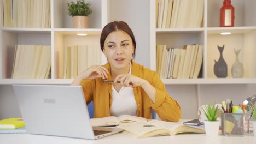
M 102 117 L 102 118 L 91 118 L 92 126 L 115 126 L 118 125 L 118 117 Z

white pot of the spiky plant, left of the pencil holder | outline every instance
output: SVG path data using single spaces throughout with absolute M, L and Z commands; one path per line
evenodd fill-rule
M 206 136 L 218 136 L 219 135 L 219 121 L 205 121 L 205 133 Z

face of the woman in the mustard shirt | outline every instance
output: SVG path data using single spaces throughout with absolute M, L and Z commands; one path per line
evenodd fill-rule
M 104 55 L 114 69 L 130 68 L 134 47 L 129 34 L 118 30 L 109 33 L 103 47 Z

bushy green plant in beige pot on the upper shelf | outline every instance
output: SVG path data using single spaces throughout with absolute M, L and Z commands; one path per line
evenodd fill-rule
M 67 14 L 73 17 L 74 28 L 88 28 L 88 16 L 92 13 L 91 3 L 78 0 L 67 3 Z

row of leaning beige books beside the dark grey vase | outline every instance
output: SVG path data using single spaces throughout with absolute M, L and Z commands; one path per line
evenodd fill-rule
M 161 79 L 196 79 L 202 65 L 203 46 L 185 45 L 182 48 L 156 46 L 156 72 Z

